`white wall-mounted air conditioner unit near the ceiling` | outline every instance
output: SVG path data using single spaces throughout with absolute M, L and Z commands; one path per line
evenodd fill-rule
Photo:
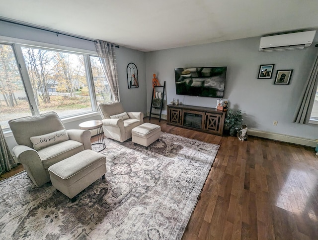
M 303 49 L 312 45 L 316 31 L 295 32 L 260 38 L 259 51 L 272 52 Z

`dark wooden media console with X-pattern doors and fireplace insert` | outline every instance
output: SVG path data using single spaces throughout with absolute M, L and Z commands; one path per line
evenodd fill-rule
M 167 105 L 167 124 L 223 135 L 225 112 L 215 108 Z

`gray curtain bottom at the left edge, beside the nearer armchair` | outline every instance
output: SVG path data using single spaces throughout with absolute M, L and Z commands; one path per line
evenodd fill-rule
M 0 126 L 0 174 L 9 171 L 12 167 L 16 167 L 16 163 L 10 153 L 10 150 L 5 142 L 2 128 Z

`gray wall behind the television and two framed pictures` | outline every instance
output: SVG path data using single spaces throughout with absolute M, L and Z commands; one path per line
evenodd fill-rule
M 176 95 L 174 68 L 227 66 L 225 98 L 229 107 L 241 109 L 249 128 L 285 135 L 317 138 L 317 125 L 293 123 L 295 108 L 308 79 L 318 49 L 262 53 L 259 37 L 160 50 L 146 53 L 146 77 L 166 81 L 166 100 L 186 105 L 215 107 L 215 98 Z M 315 39 L 316 40 L 316 39 Z M 257 79 L 259 65 L 275 64 L 272 79 Z M 276 70 L 293 69 L 290 85 L 274 85 Z M 147 84 L 148 109 L 152 85 Z M 166 110 L 162 112 L 166 114 Z M 274 126 L 273 121 L 278 125 Z

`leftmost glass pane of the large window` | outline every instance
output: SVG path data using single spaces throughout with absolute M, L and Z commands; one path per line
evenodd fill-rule
M 10 119 L 31 115 L 12 45 L 5 44 L 0 44 L 0 113 L 2 129 Z

